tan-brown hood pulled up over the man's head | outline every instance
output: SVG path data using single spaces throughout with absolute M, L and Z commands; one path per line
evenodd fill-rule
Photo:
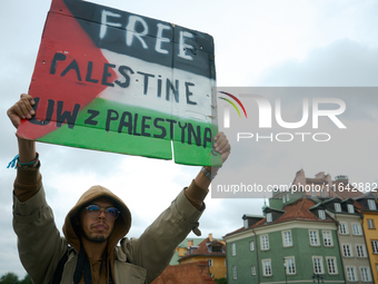
M 94 199 L 100 197 L 106 197 L 111 199 L 115 203 L 115 206 L 119 209 L 120 214 L 116 219 L 115 227 L 112 233 L 108 239 L 108 253 L 111 254 L 115 246 L 118 242 L 125 237 L 125 235 L 129 232 L 131 226 L 131 213 L 126 204 L 112 192 L 108 188 L 96 185 L 84 192 L 79 198 L 78 203 L 73 206 L 73 208 L 67 214 L 64 224 L 63 224 L 63 234 L 66 236 L 67 242 L 76 248 L 78 252 L 80 251 L 80 231 L 77 225 L 77 217 L 80 213 L 81 208 L 91 203 Z

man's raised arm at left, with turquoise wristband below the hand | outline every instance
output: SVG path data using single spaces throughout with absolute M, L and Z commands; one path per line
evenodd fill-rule
M 31 96 L 22 94 L 7 114 L 16 128 L 21 119 L 34 115 Z M 13 229 L 18 236 L 19 256 L 33 283 L 51 282 L 67 243 L 60 237 L 48 206 L 39 172 L 36 143 L 17 137 L 19 158 L 13 188 Z

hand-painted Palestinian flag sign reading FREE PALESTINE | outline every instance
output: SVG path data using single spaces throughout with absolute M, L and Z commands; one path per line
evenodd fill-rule
M 219 165 L 212 37 L 79 0 L 53 0 L 27 139 Z

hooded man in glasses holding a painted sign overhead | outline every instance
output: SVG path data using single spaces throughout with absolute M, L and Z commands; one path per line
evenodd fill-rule
M 8 110 L 16 128 L 22 119 L 32 118 L 34 104 L 31 96 L 21 95 Z M 215 140 L 215 149 L 226 161 L 230 154 L 226 136 L 219 133 Z M 139 238 L 125 238 L 130 212 L 102 186 L 83 193 L 68 213 L 64 237 L 60 237 L 44 198 L 36 143 L 18 137 L 18 145 L 13 227 L 21 262 L 33 283 L 151 283 L 190 231 L 198 233 L 212 179 L 210 167 L 203 167 Z

